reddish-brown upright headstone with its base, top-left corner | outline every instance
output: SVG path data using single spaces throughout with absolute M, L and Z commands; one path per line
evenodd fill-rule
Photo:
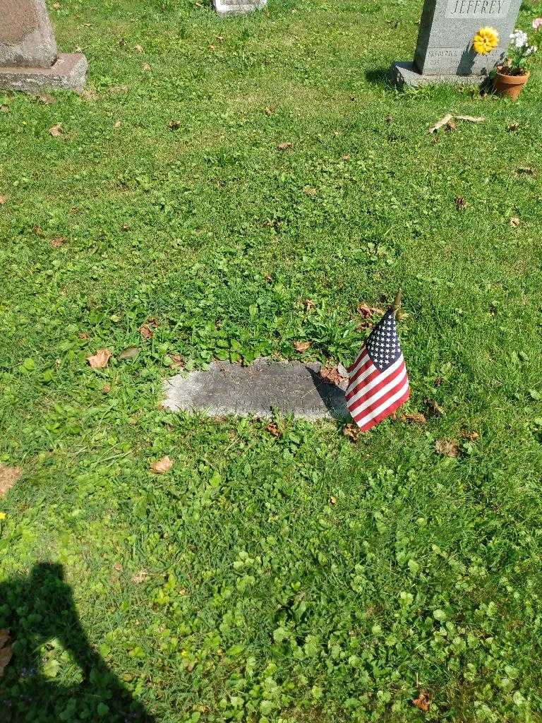
M 0 0 L 0 90 L 82 90 L 87 59 L 61 54 L 45 0 Z

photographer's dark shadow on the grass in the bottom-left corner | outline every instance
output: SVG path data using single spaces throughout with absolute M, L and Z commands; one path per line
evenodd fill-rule
M 0 719 L 152 723 L 90 646 L 62 565 L 40 563 L 29 576 L 0 583 L 0 628 L 13 641 L 0 685 Z M 59 659 L 69 671 L 67 683 L 54 680 Z

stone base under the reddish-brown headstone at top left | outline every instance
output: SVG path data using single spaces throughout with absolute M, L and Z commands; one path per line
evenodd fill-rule
M 60 54 L 50 68 L 0 67 L 0 90 L 37 94 L 58 88 L 80 92 L 87 69 L 87 59 L 81 53 Z

